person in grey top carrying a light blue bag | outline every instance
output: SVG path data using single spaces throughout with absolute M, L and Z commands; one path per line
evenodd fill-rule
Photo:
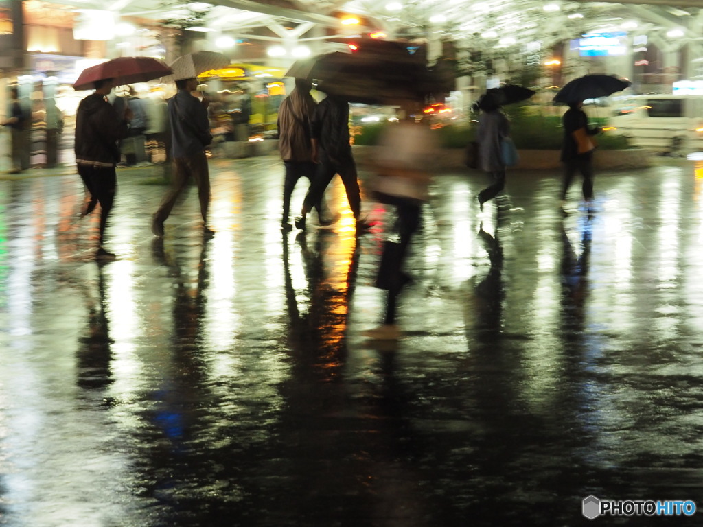
M 501 112 L 494 93 L 486 93 L 477 103 L 481 115 L 477 138 L 479 143 L 479 168 L 491 176 L 491 184 L 479 192 L 477 200 L 483 210 L 484 203 L 493 199 L 505 188 L 505 163 L 501 156 L 501 139 L 510 136 L 510 122 Z

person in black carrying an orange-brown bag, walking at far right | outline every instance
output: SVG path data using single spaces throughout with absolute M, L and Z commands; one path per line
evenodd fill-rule
M 583 100 L 569 103 L 569 110 L 562 117 L 564 142 L 560 160 L 564 163 L 564 180 L 562 184 L 562 212 L 567 207 L 567 193 L 578 170 L 583 176 L 583 200 L 586 200 L 588 211 L 591 212 L 593 203 L 593 136 L 600 132 L 600 127 L 588 127 L 588 117 L 583 111 Z

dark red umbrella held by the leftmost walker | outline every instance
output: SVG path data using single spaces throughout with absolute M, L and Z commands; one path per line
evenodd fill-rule
M 73 84 L 75 90 L 91 90 L 96 81 L 115 79 L 115 84 L 147 82 L 171 74 L 170 67 L 151 57 L 119 57 L 86 67 Z

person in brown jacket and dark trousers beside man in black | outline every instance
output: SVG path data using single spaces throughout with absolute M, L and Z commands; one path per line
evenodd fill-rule
M 283 218 L 280 228 L 291 230 L 290 197 L 295 184 L 302 177 L 307 177 L 312 185 L 316 167 L 312 152 L 312 119 L 317 103 L 310 95 L 312 84 L 306 79 L 295 79 L 295 89 L 283 99 L 278 109 L 278 151 L 285 166 L 283 182 Z M 315 203 L 320 223 L 323 223 L 323 198 Z

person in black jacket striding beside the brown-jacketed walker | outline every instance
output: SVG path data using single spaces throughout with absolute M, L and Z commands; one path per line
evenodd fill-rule
M 305 229 L 307 213 L 324 195 L 335 174 L 339 174 L 356 220 L 356 230 L 368 229 L 368 224 L 361 219 L 361 192 L 349 143 L 349 103 L 346 100 L 330 95 L 317 105 L 312 121 L 312 145 L 313 162 L 317 164 L 315 181 L 308 189 L 295 226 Z

